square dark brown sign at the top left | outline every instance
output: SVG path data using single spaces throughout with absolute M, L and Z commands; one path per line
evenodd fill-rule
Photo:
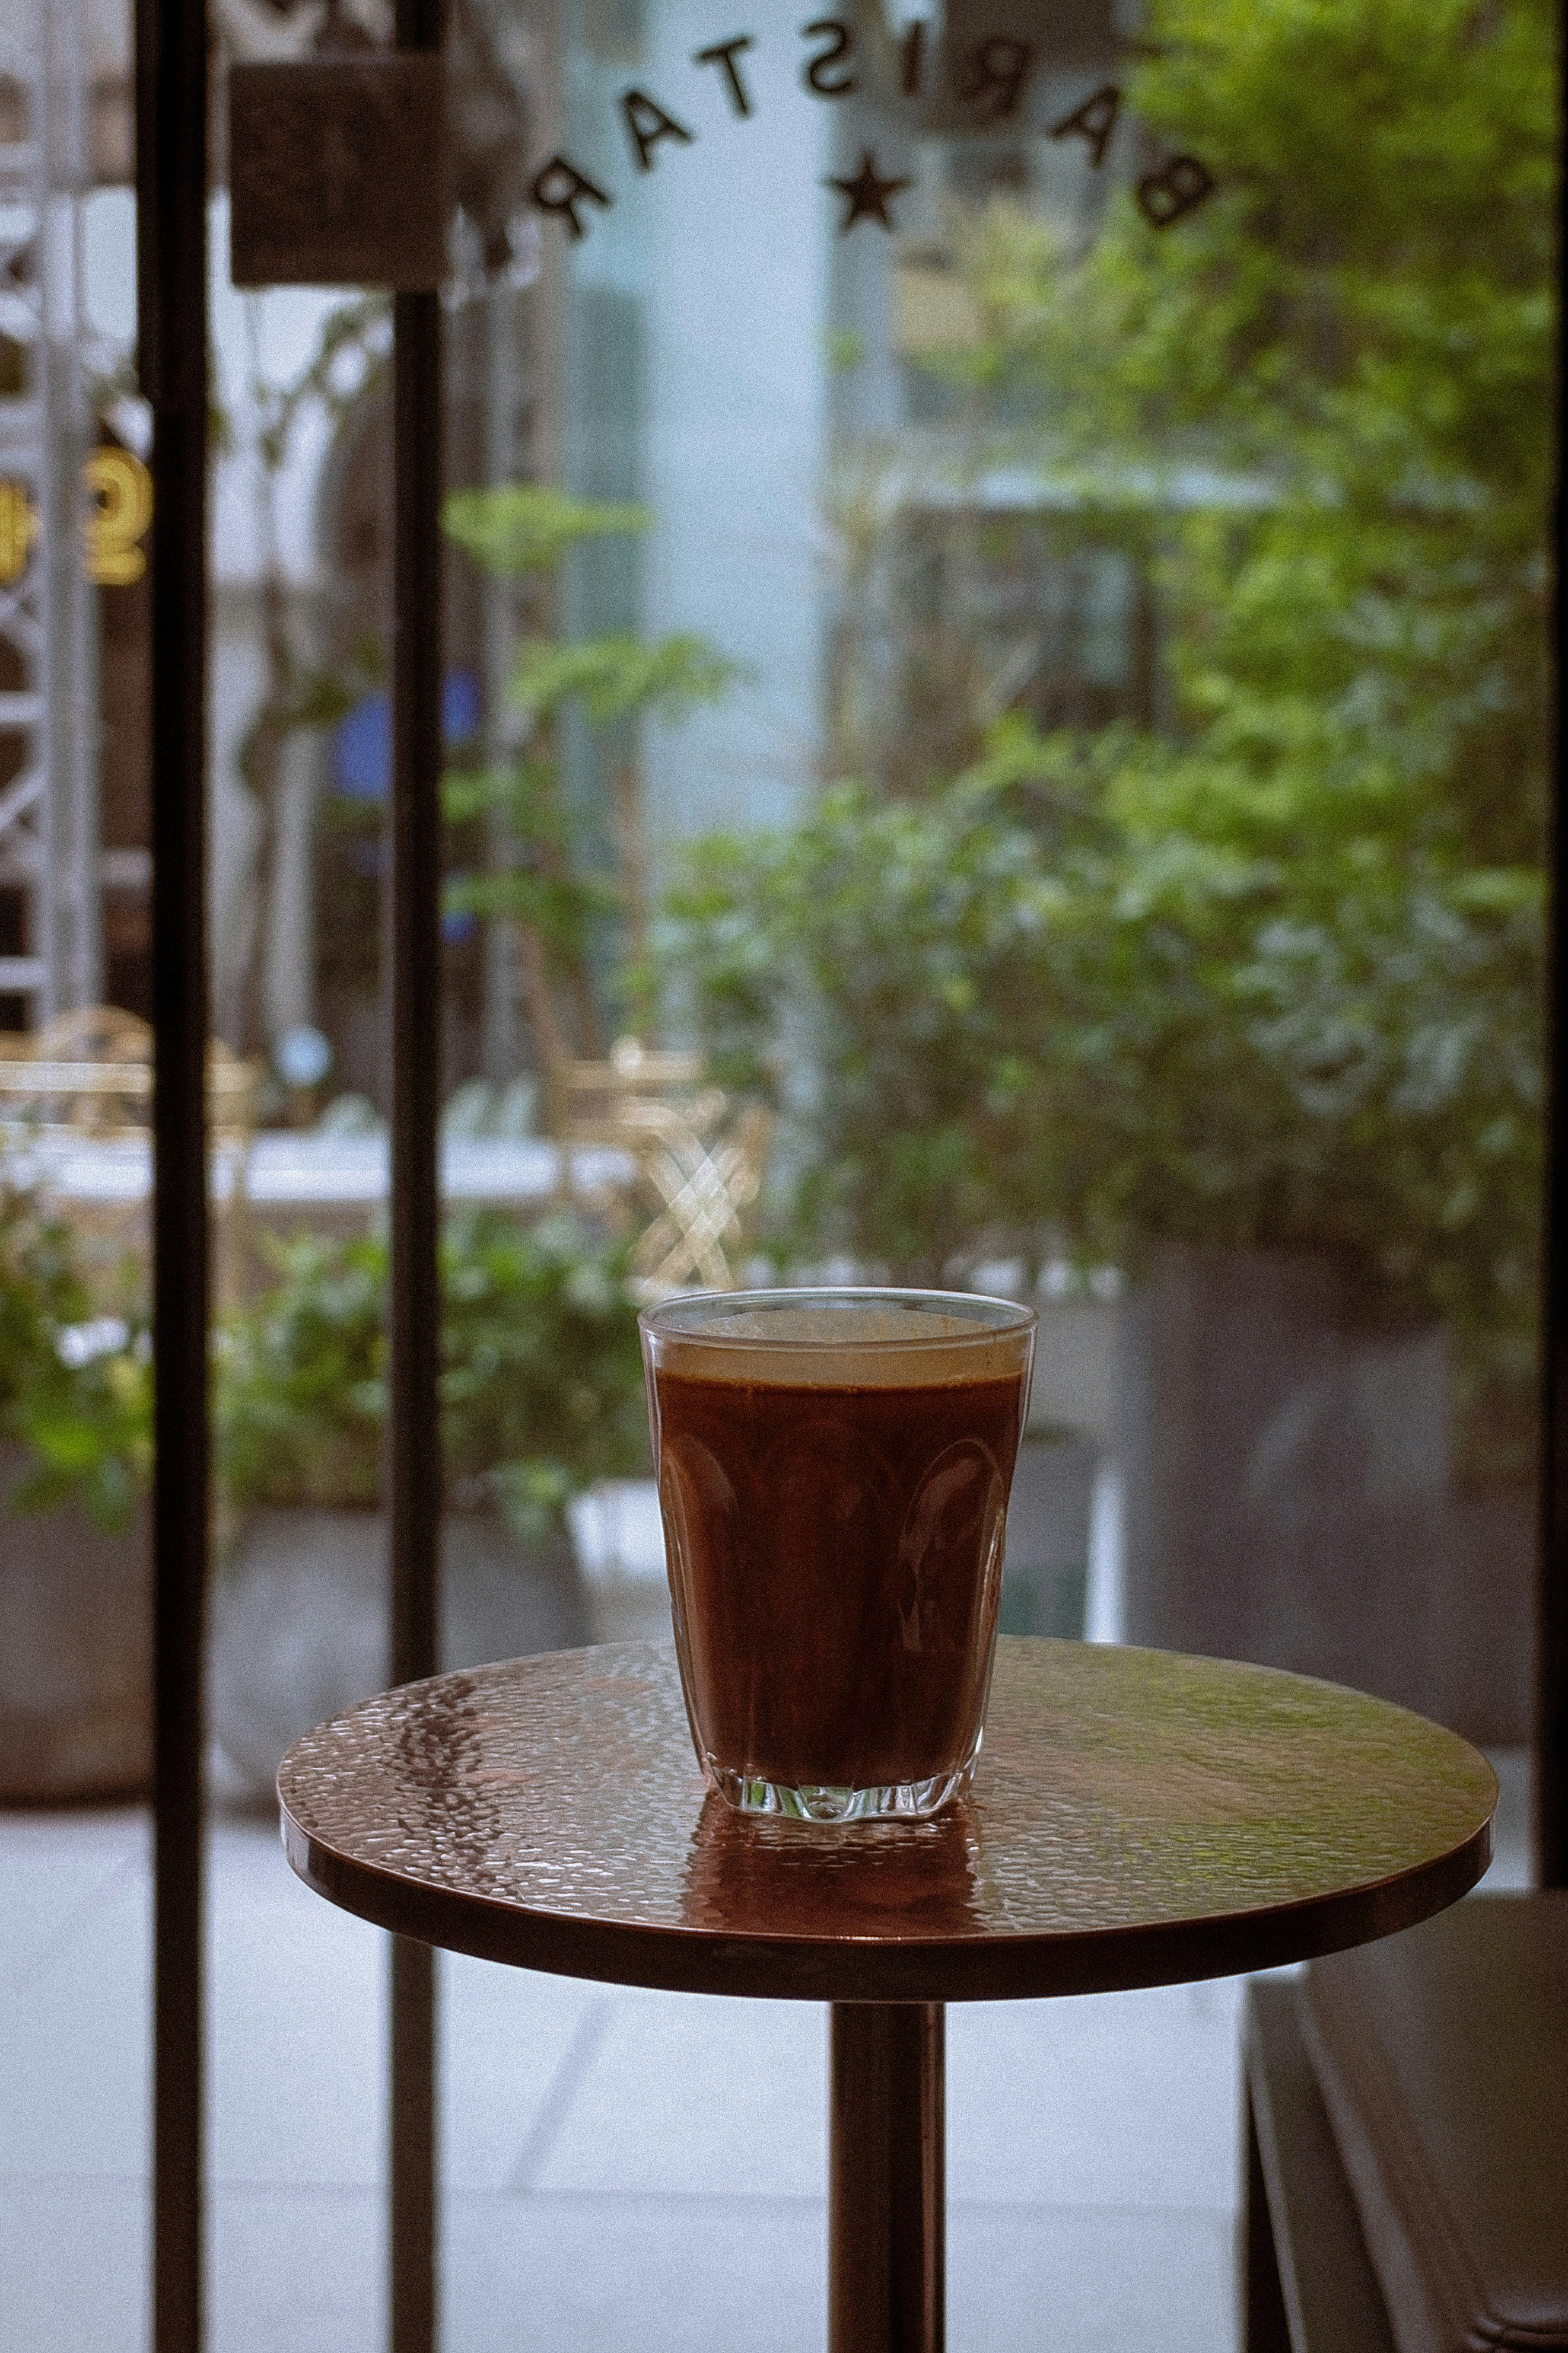
M 237 287 L 433 294 L 447 275 L 447 78 L 407 52 L 230 66 Z

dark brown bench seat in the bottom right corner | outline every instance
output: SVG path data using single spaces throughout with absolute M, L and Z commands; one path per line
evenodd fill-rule
M 1568 2348 L 1568 1892 L 1255 1984 L 1246 2087 L 1248 2353 Z

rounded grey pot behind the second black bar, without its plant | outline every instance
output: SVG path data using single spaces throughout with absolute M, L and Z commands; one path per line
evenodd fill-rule
M 388 1682 L 388 1558 L 378 1511 L 256 1511 L 212 1598 L 212 1729 L 244 1784 L 273 1788 L 284 1748 Z M 524 1546 L 482 1513 L 442 1522 L 442 1668 L 588 1640 L 562 1534 Z

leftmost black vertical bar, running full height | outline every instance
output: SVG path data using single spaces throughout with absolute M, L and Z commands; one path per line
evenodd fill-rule
M 202 2344 L 207 1591 L 207 9 L 136 0 L 136 299 L 153 405 L 153 2344 Z

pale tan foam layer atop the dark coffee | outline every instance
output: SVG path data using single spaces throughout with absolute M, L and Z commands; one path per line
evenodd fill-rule
M 1018 1377 L 1030 1362 L 1030 1327 L 882 1301 L 748 1308 L 686 1332 L 663 1327 L 656 1353 L 672 1374 L 745 1388 L 938 1388 Z

